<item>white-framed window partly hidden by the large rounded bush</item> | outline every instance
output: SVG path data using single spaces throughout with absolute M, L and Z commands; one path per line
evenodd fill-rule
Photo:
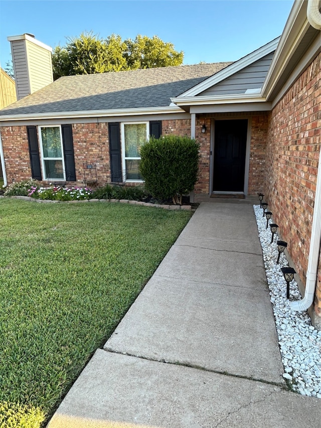
M 148 139 L 148 122 L 121 124 L 122 169 L 124 181 L 141 181 L 140 148 Z

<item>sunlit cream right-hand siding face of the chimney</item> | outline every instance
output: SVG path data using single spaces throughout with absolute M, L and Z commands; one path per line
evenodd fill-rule
M 51 52 L 28 40 L 26 41 L 26 46 L 30 89 L 31 93 L 33 93 L 53 82 Z

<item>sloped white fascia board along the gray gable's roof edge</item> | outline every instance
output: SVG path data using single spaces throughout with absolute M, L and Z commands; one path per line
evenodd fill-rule
M 243 70 L 243 68 L 248 67 L 249 65 L 253 64 L 254 62 L 258 61 L 259 59 L 265 57 L 266 55 L 270 54 L 271 52 L 275 51 L 277 44 L 279 42 L 280 38 L 278 37 L 275 40 L 272 40 L 271 42 L 267 43 L 266 45 L 262 46 L 261 48 L 257 49 L 256 51 L 246 55 L 245 57 L 239 59 L 238 61 L 233 62 L 233 64 L 227 66 L 226 68 L 223 68 L 223 70 L 218 71 L 214 74 L 214 76 L 209 77 L 208 79 L 204 80 L 203 82 L 199 83 L 198 85 L 194 86 L 193 88 L 189 89 L 186 92 L 183 92 L 180 97 L 189 97 L 189 96 L 195 96 L 199 94 L 200 92 L 205 91 L 206 89 L 216 85 L 217 83 L 221 82 L 222 80 L 227 79 L 228 77 L 232 76 L 233 74 Z

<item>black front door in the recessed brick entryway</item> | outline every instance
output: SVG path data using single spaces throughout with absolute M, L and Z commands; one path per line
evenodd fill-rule
M 215 120 L 213 192 L 243 192 L 247 119 Z

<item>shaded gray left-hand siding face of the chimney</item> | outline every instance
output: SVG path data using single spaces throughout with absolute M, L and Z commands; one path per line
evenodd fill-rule
M 14 61 L 14 72 L 16 81 L 17 98 L 21 99 L 30 94 L 30 81 L 27 67 L 27 51 L 24 40 L 16 41 L 11 45 Z

